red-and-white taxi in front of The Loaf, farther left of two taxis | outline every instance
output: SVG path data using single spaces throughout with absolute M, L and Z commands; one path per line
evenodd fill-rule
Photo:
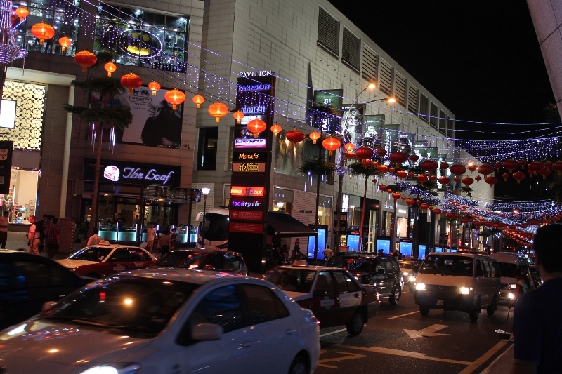
M 102 241 L 96 246 L 82 248 L 57 262 L 82 276 L 100 279 L 110 274 L 155 265 L 156 258 L 143 248 Z

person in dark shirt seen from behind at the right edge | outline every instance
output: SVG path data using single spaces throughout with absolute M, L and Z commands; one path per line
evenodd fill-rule
M 533 241 L 544 283 L 519 298 L 514 312 L 511 373 L 560 373 L 562 368 L 562 225 L 544 225 Z

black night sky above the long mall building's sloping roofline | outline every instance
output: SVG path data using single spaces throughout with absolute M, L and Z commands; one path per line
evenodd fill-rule
M 554 103 L 524 0 L 329 1 L 443 102 L 457 129 L 516 133 L 523 127 L 459 120 L 542 123 L 542 109 Z

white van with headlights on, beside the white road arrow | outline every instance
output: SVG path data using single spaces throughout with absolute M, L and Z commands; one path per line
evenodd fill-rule
M 430 309 L 468 312 L 478 321 L 481 309 L 493 316 L 499 300 L 495 258 L 471 253 L 430 253 L 419 267 L 414 299 L 419 313 Z

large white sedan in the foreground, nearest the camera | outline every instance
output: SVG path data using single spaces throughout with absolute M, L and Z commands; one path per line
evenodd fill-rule
M 6 373 L 312 373 L 319 323 L 268 281 L 138 270 L 0 333 Z M 50 309 L 48 309 L 50 307 Z

